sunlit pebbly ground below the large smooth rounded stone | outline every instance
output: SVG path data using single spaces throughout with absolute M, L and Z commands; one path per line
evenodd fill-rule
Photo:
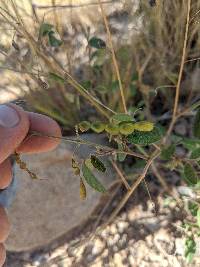
M 181 237 L 183 215 L 173 201 L 163 199 L 160 188 L 150 183 L 156 205 L 148 199 L 143 186 L 135 193 L 121 214 L 95 237 L 74 233 L 72 241 L 54 242 L 32 253 L 8 253 L 7 267 L 197 267 L 200 258 L 188 265 L 184 260 Z M 119 190 L 103 219 L 106 221 L 123 190 Z M 141 199 L 143 200 L 141 202 Z M 169 200 L 169 199 L 168 199 Z M 168 203 L 167 203 L 168 202 Z M 96 219 L 90 225 L 93 229 Z M 84 231 L 83 231 L 84 232 Z M 200 254 L 200 251 L 197 252 Z

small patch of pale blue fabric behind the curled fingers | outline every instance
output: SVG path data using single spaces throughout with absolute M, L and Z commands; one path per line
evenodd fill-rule
M 0 178 L 1 179 L 1 178 Z M 8 208 L 15 198 L 17 192 L 17 179 L 13 177 L 12 183 L 8 188 L 0 190 L 0 206 Z

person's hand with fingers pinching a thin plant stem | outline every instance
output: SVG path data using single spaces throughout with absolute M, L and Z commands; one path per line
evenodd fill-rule
M 29 136 L 30 131 L 61 136 L 58 124 L 47 116 L 26 112 L 14 104 L 0 105 L 0 189 L 6 189 L 12 181 L 9 156 L 18 153 L 40 153 L 54 149 L 59 139 Z M 1 194 L 1 193 L 0 193 Z M 9 234 L 9 220 L 5 209 L 0 206 L 0 266 L 6 252 L 3 243 Z

